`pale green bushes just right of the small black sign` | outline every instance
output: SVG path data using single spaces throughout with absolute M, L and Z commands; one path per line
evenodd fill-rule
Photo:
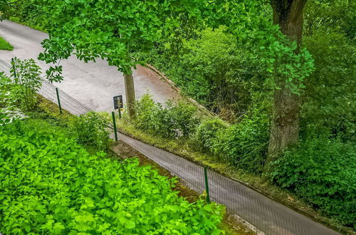
M 188 137 L 199 123 L 197 108 L 182 100 L 162 106 L 155 103 L 150 95 L 143 95 L 135 103 L 135 110 L 134 125 L 162 137 Z

